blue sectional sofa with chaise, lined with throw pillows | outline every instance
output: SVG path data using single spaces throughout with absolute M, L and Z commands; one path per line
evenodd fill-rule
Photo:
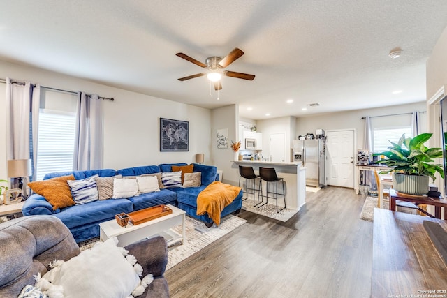
M 98 174 L 99 177 L 113 177 L 121 174 L 123 177 L 139 176 L 142 174 L 154 174 L 158 172 L 171 172 L 172 166 L 187 165 L 186 163 L 170 163 L 161 165 L 147 165 L 142 167 L 129 167 L 122 170 L 102 169 L 89 171 L 58 172 L 46 174 L 44 180 L 73 174 L 75 179 L 85 179 Z M 97 200 L 87 204 L 73 205 L 53 210 L 50 202 L 38 194 L 31 195 L 22 207 L 22 214 L 56 216 L 70 229 L 76 242 L 85 241 L 99 236 L 99 223 L 110 221 L 115 214 L 129 213 L 159 204 L 172 204 L 186 211 L 186 214 L 203 221 L 210 227 L 212 220 L 207 214 L 196 215 L 197 196 L 200 191 L 213 181 L 217 180 L 217 168 L 210 165 L 193 164 L 193 172 L 201 172 L 201 183 L 198 187 L 191 188 L 164 188 L 153 193 L 143 193 L 126 199 Z M 242 208 L 242 191 L 235 200 L 221 212 L 221 216 L 237 213 Z

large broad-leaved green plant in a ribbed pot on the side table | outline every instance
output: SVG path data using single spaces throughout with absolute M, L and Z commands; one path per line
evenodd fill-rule
M 428 193 L 429 177 L 434 181 L 434 174 L 438 172 L 444 178 L 442 165 L 434 164 L 434 158 L 442 157 L 442 149 L 424 145 L 430 137 L 432 133 L 422 133 L 413 138 L 402 135 L 397 144 L 390 142 L 388 151 L 373 154 L 387 157 L 379 163 L 392 167 L 387 173 L 393 172 L 393 188 L 396 191 L 424 195 Z

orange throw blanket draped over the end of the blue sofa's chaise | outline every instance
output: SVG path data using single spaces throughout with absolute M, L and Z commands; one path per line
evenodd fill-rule
M 242 188 L 214 181 L 197 196 L 197 215 L 208 214 L 216 225 L 221 223 L 223 208 L 231 204 Z

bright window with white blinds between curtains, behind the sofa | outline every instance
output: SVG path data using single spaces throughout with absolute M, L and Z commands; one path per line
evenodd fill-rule
M 51 172 L 73 170 L 75 113 L 41 109 L 36 180 Z

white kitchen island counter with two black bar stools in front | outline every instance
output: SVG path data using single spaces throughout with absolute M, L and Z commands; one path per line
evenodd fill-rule
M 306 169 L 301 167 L 299 162 L 272 162 L 272 161 L 231 161 L 234 168 L 242 166 L 253 167 L 256 174 L 259 173 L 259 167 L 274 167 L 279 178 L 283 178 L 286 186 L 286 207 L 288 209 L 300 210 L 306 204 Z M 242 179 L 244 180 L 244 179 Z M 256 180 L 256 187 L 258 186 Z M 279 182 L 281 185 L 281 182 Z M 270 188 L 270 186 L 269 186 Z M 281 192 L 280 188 L 280 192 Z M 263 193 L 265 195 L 265 182 L 263 182 Z M 256 196 L 258 193 L 256 192 Z M 281 198 L 281 196 L 279 196 Z M 275 204 L 275 200 L 269 200 Z M 284 201 L 278 200 L 278 205 L 284 206 Z

